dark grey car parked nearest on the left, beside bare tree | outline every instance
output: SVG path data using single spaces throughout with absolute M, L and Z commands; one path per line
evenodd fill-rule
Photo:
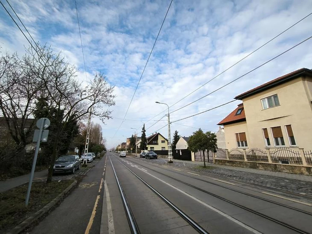
M 59 157 L 53 166 L 53 173 L 74 173 L 80 169 L 78 155 L 63 155 Z

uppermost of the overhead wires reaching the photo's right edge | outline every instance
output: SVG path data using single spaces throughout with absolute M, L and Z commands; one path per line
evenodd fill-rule
M 267 45 L 268 43 L 270 43 L 271 41 L 273 41 L 274 39 L 276 39 L 277 37 L 279 37 L 280 35 L 282 35 L 283 33 L 285 33 L 286 31 L 288 31 L 290 28 L 294 27 L 295 25 L 297 25 L 298 23 L 300 23 L 301 21 L 303 21 L 305 18 L 309 17 L 312 14 L 312 12 L 308 15 L 306 15 L 305 17 L 301 18 L 299 21 L 295 22 L 293 25 L 291 25 L 290 27 L 288 27 L 287 29 L 285 29 L 284 31 L 282 31 L 281 33 L 279 33 L 278 35 L 276 35 L 275 37 L 273 37 L 272 39 L 270 39 L 269 41 L 267 41 L 266 43 L 264 43 L 263 45 L 261 45 L 260 47 L 258 47 L 256 50 L 253 50 L 251 53 L 249 53 L 248 55 L 246 55 L 245 57 L 243 57 L 241 60 L 237 61 L 236 63 L 232 64 L 230 67 L 228 67 L 227 69 L 223 70 L 221 73 L 219 73 L 218 75 L 216 75 L 215 77 L 213 77 L 212 79 L 208 80 L 205 84 L 202 84 L 200 87 L 196 88 L 194 91 L 192 91 L 191 93 L 189 93 L 188 95 L 186 95 L 185 97 L 181 98 L 180 100 L 178 100 L 177 102 L 173 103 L 171 106 L 169 107 L 173 107 L 174 105 L 176 105 L 177 103 L 181 102 L 183 99 L 187 98 L 188 96 L 190 96 L 191 94 L 193 94 L 194 92 L 196 92 L 198 89 L 202 88 L 203 86 L 205 86 L 206 84 L 208 84 L 209 82 L 211 82 L 212 80 L 216 79 L 218 76 L 222 75 L 223 73 L 225 73 L 227 70 L 231 69 L 232 67 L 234 67 L 235 65 L 237 65 L 238 63 L 240 63 L 242 60 L 245 60 L 247 57 L 249 57 L 250 55 L 252 55 L 253 53 L 255 53 L 257 50 L 261 49 L 263 46 Z M 151 119 L 149 119 L 147 122 L 151 121 L 152 119 L 154 119 L 155 117 L 157 117 L 158 115 L 160 115 L 161 113 L 165 112 L 166 110 L 160 112 L 159 114 L 155 115 L 154 117 L 152 117 Z M 145 122 L 145 123 L 147 123 Z

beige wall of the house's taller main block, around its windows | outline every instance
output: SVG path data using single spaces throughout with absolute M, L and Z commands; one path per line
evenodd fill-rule
M 309 84 L 310 81 L 312 81 L 311 78 L 309 78 Z M 261 99 L 274 94 L 278 95 L 280 106 L 263 110 Z M 285 125 L 291 124 L 297 146 L 311 148 L 312 106 L 306 93 L 305 82 L 301 77 L 244 98 L 243 103 L 249 133 L 247 136 L 249 147 L 265 147 L 262 128 L 267 128 L 271 148 L 274 148 L 270 128 L 277 126 L 281 126 L 285 146 L 289 147 Z

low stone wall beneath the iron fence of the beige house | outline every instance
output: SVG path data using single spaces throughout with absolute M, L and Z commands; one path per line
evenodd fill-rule
M 245 162 L 236 160 L 221 160 L 215 159 L 215 164 L 235 166 L 235 167 L 246 167 L 260 170 L 279 171 L 292 174 L 312 175 L 311 166 L 297 166 L 289 164 L 275 164 L 275 163 L 261 163 L 261 162 Z

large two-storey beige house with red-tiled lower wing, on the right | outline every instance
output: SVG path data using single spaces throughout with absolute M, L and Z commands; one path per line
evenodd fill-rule
M 311 149 L 312 70 L 302 68 L 237 95 L 235 110 L 218 125 L 226 148 Z

